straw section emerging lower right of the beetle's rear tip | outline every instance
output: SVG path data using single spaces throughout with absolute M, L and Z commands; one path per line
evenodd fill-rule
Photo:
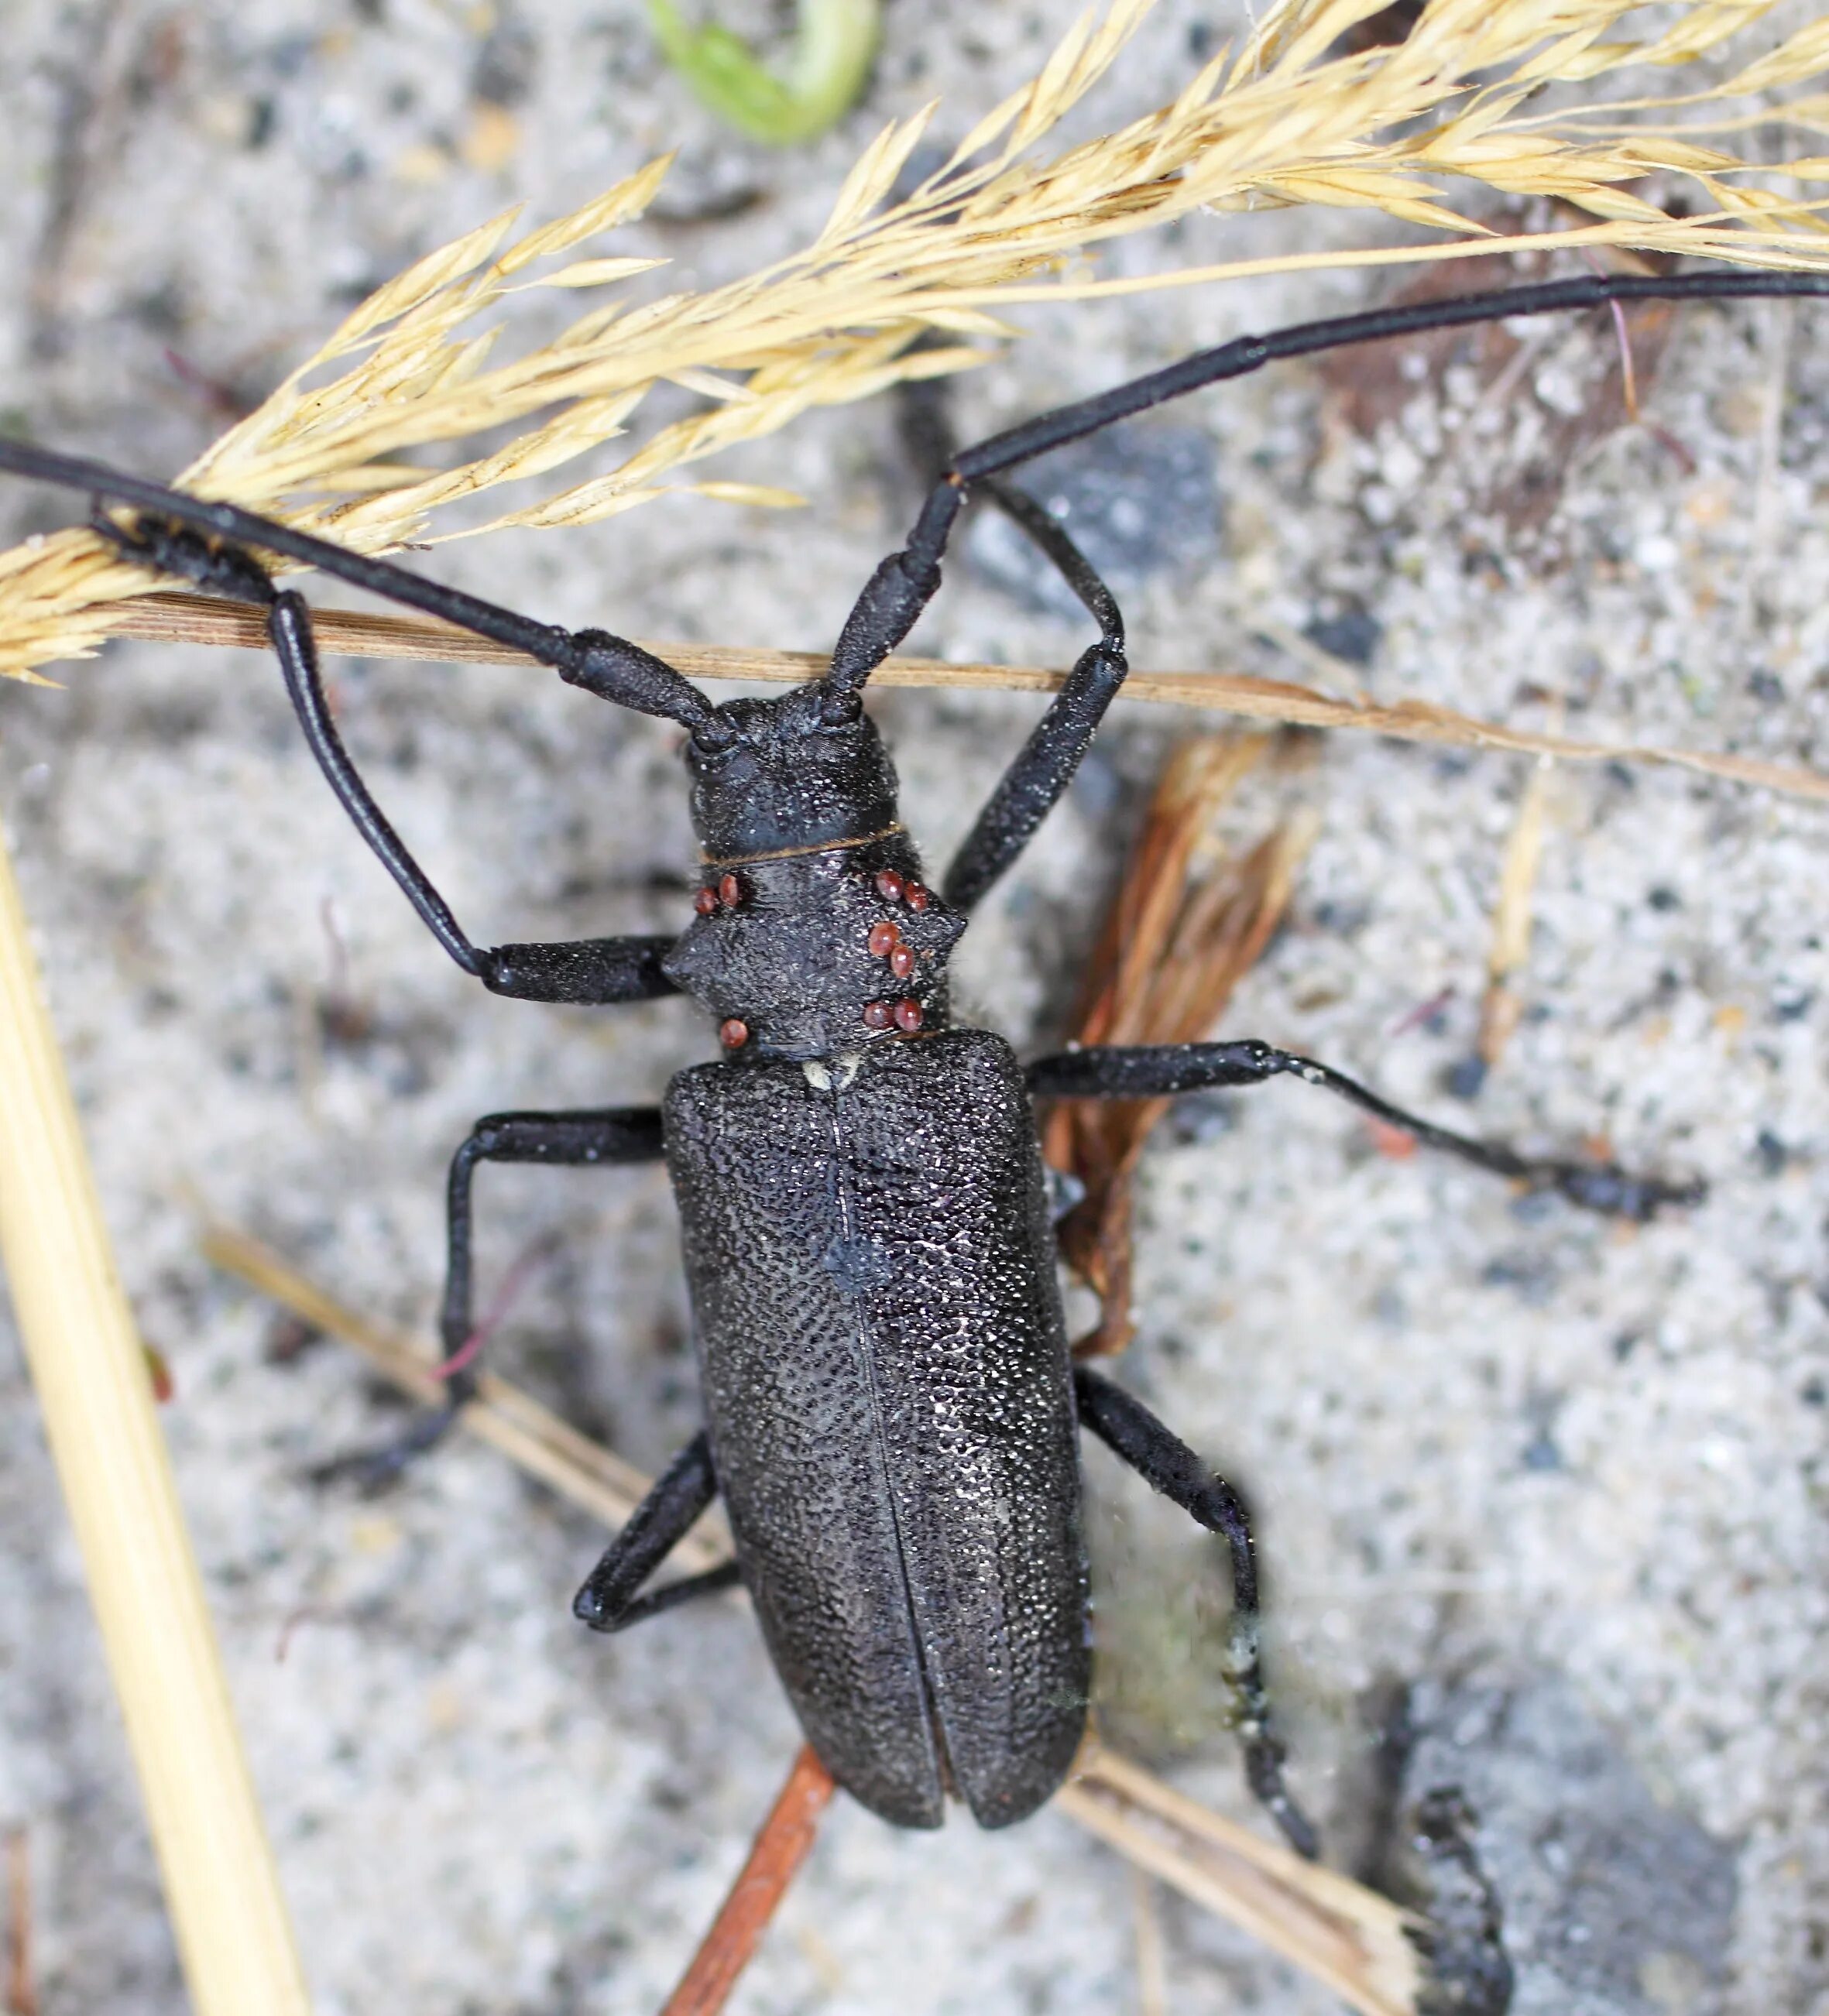
M 1361 2016 L 1416 2016 L 1422 1921 L 1351 1877 L 1184 1798 L 1097 1744 L 1055 1804 L 1184 1897 L 1242 1925 Z

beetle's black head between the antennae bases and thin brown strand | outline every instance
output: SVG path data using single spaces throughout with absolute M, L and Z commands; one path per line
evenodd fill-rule
M 726 700 L 686 744 L 710 861 L 863 841 L 895 825 L 895 766 L 857 702 L 825 681 Z

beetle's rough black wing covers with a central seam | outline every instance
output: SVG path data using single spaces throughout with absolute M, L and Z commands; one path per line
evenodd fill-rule
M 1091 1657 L 1014 1054 L 952 1028 L 700 1064 L 661 1111 L 718 1490 L 809 1738 L 903 1826 L 938 1826 L 948 1782 L 1020 1820 L 1079 1748 Z

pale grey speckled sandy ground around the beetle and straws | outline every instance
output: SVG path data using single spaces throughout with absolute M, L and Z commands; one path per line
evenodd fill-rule
M 551 216 L 672 143 L 667 216 L 748 187 L 760 202 L 647 224 L 629 250 L 676 260 L 674 284 L 738 274 L 809 234 L 883 117 L 944 91 L 958 135 L 1065 18 L 893 10 L 869 107 L 776 157 L 692 109 L 619 0 L 530 6 L 488 40 L 480 16 L 421 0 L 16 0 L 0 405 L 44 442 L 175 470 L 222 423 L 188 377 L 258 395 L 353 292 L 510 200 Z M 1095 113 L 1172 93 L 1190 36 L 1226 26 L 1166 6 Z M 478 89 L 522 93 L 494 169 L 462 159 Z M 1351 232 L 1373 226 L 1206 220 L 1113 266 Z M 1365 280 L 1309 276 L 1034 312 L 1034 341 L 960 389 L 960 421 L 982 431 L 1363 298 Z M 1371 444 L 1329 417 L 1309 369 L 1196 401 L 1168 419 L 1186 429 L 1178 456 L 1192 439 L 1208 458 L 1222 524 L 1131 587 L 1135 661 L 1315 677 L 1266 639 L 1347 621 L 1321 635 L 1377 643 L 1335 683 L 1377 698 L 1543 726 L 1561 696 L 1597 740 L 1821 764 L 1825 329 L 1821 310 L 1686 317 L 1654 413 L 1694 472 L 1645 431 L 1615 433 L 1531 550 L 1482 514 L 1482 470 L 1579 401 L 1603 329 L 1553 335 L 1514 399 L 1472 419 L 1478 385 L 1450 373 L 1446 407 L 1424 389 Z M 827 643 L 911 506 L 889 411 L 817 415 L 726 472 L 813 508 L 659 504 L 430 564 L 563 621 Z M 12 536 L 71 508 L 0 492 Z M 1051 663 L 1079 641 L 964 566 L 913 639 Z M 524 671 L 333 671 L 377 792 L 474 935 L 684 915 L 669 728 Z M 944 861 L 1034 702 L 893 694 L 877 712 Z M 1139 792 L 1194 726 L 1119 708 L 974 929 L 964 1002 L 1018 1044 L 1059 1030 Z M 1803 2016 L 1829 1998 L 1829 808 L 1670 772 L 1557 772 L 1527 1016 L 1458 1107 L 1442 1079 L 1472 1046 L 1522 782 L 1512 758 L 1337 736 L 1305 778 L 1254 786 L 1240 833 L 1291 794 L 1325 823 L 1228 1028 L 1533 1145 L 1607 1135 L 1637 1165 L 1706 1173 L 1710 1202 L 1621 1232 L 1383 1159 L 1299 1087 L 1240 1097 L 1151 1153 L 1123 1377 L 1262 1514 L 1297 1780 L 1337 1843 L 1367 1810 L 1363 1702 L 1428 1681 L 1424 1708 L 1462 1704 L 1440 1742 L 1470 1746 L 1492 1841 L 1510 1829 L 1520 1931 L 1553 1927 L 1520 1954 L 1520 2006 Z M 335 1347 L 266 1363 L 270 1312 L 200 1260 L 188 1200 L 345 1300 L 423 1325 L 444 1161 L 470 1119 L 651 1099 L 710 1030 L 684 1004 L 478 996 L 343 825 L 252 655 L 119 647 L 60 691 L 0 694 L 0 812 L 127 1288 L 177 1381 L 179 1484 L 317 2008 L 655 2010 L 795 1742 L 750 1615 L 732 1601 L 589 1639 L 569 1597 L 601 1534 L 482 1447 L 452 1447 L 385 1502 L 313 1490 L 315 1460 L 397 1415 Z M 337 988 L 367 1022 L 355 1042 L 325 1040 Z M 498 1365 L 661 1464 L 694 1393 L 659 1173 L 490 1171 L 482 1212 L 490 1280 L 563 1234 Z M 10 1339 L 0 1385 L 0 1824 L 30 1831 L 44 2010 L 167 2016 L 181 1988 L 151 1857 Z M 1107 1718 L 1242 1812 L 1202 1679 L 1218 1619 L 1188 1595 L 1216 1564 L 1091 1468 Z M 1162 1915 L 1178 2012 L 1329 2006 L 1194 1909 Z M 916 1839 L 841 1806 L 736 2008 L 1133 2010 L 1131 1875 L 1053 1814 Z

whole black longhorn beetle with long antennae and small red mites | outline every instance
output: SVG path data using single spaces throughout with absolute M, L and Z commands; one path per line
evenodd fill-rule
M 1145 1407 L 1069 1361 L 1030 1101 L 1153 1099 L 1293 1075 L 1424 1145 L 1591 1210 L 1643 1220 L 1696 1202 L 1702 1185 L 1466 1139 L 1264 1042 L 1081 1048 L 1024 1066 L 1000 1036 L 952 1024 L 952 948 L 1067 788 L 1125 677 L 1111 593 L 1061 526 L 1000 476 L 1274 359 L 1514 314 L 1762 294 L 1829 294 L 1829 276 L 1595 276 L 1420 302 L 1240 337 L 1059 407 L 952 458 L 819 679 L 722 706 L 621 637 L 553 629 L 232 504 L 0 442 L 0 468 L 89 490 L 95 528 L 121 552 L 266 607 L 331 788 L 466 974 L 536 1002 L 684 992 L 718 1018 L 724 1060 L 682 1070 L 659 1107 L 498 1113 L 478 1121 L 452 1161 L 450 1353 L 472 1335 L 470 1183 L 480 1161 L 665 1157 L 680 1202 L 706 1425 L 581 1589 L 575 1609 L 587 1625 L 619 1631 L 742 1583 L 807 1738 L 839 1784 L 901 1826 L 940 1824 L 948 1794 L 980 1824 L 1006 1826 L 1055 1792 L 1085 1730 L 1077 1429 L 1087 1427 L 1224 1538 L 1228 1679 L 1246 1778 L 1289 1841 L 1315 1853 L 1315 1831 L 1283 1780 L 1260 1677 L 1244 1508 Z M 1061 571 L 1099 641 L 930 889 L 859 696 L 940 587 L 940 556 L 974 490 Z M 137 518 L 105 516 L 105 500 Z M 343 748 L 307 603 L 274 589 L 254 550 L 444 617 L 530 653 L 571 685 L 690 730 L 704 887 L 688 927 L 678 937 L 472 943 Z M 397 1470 L 436 1441 L 472 1391 L 474 1375 L 456 1375 L 450 1407 L 363 1460 L 365 1472 Z M 736 1560 L 643 1593 L 714 1496 L 728 1508 Z

